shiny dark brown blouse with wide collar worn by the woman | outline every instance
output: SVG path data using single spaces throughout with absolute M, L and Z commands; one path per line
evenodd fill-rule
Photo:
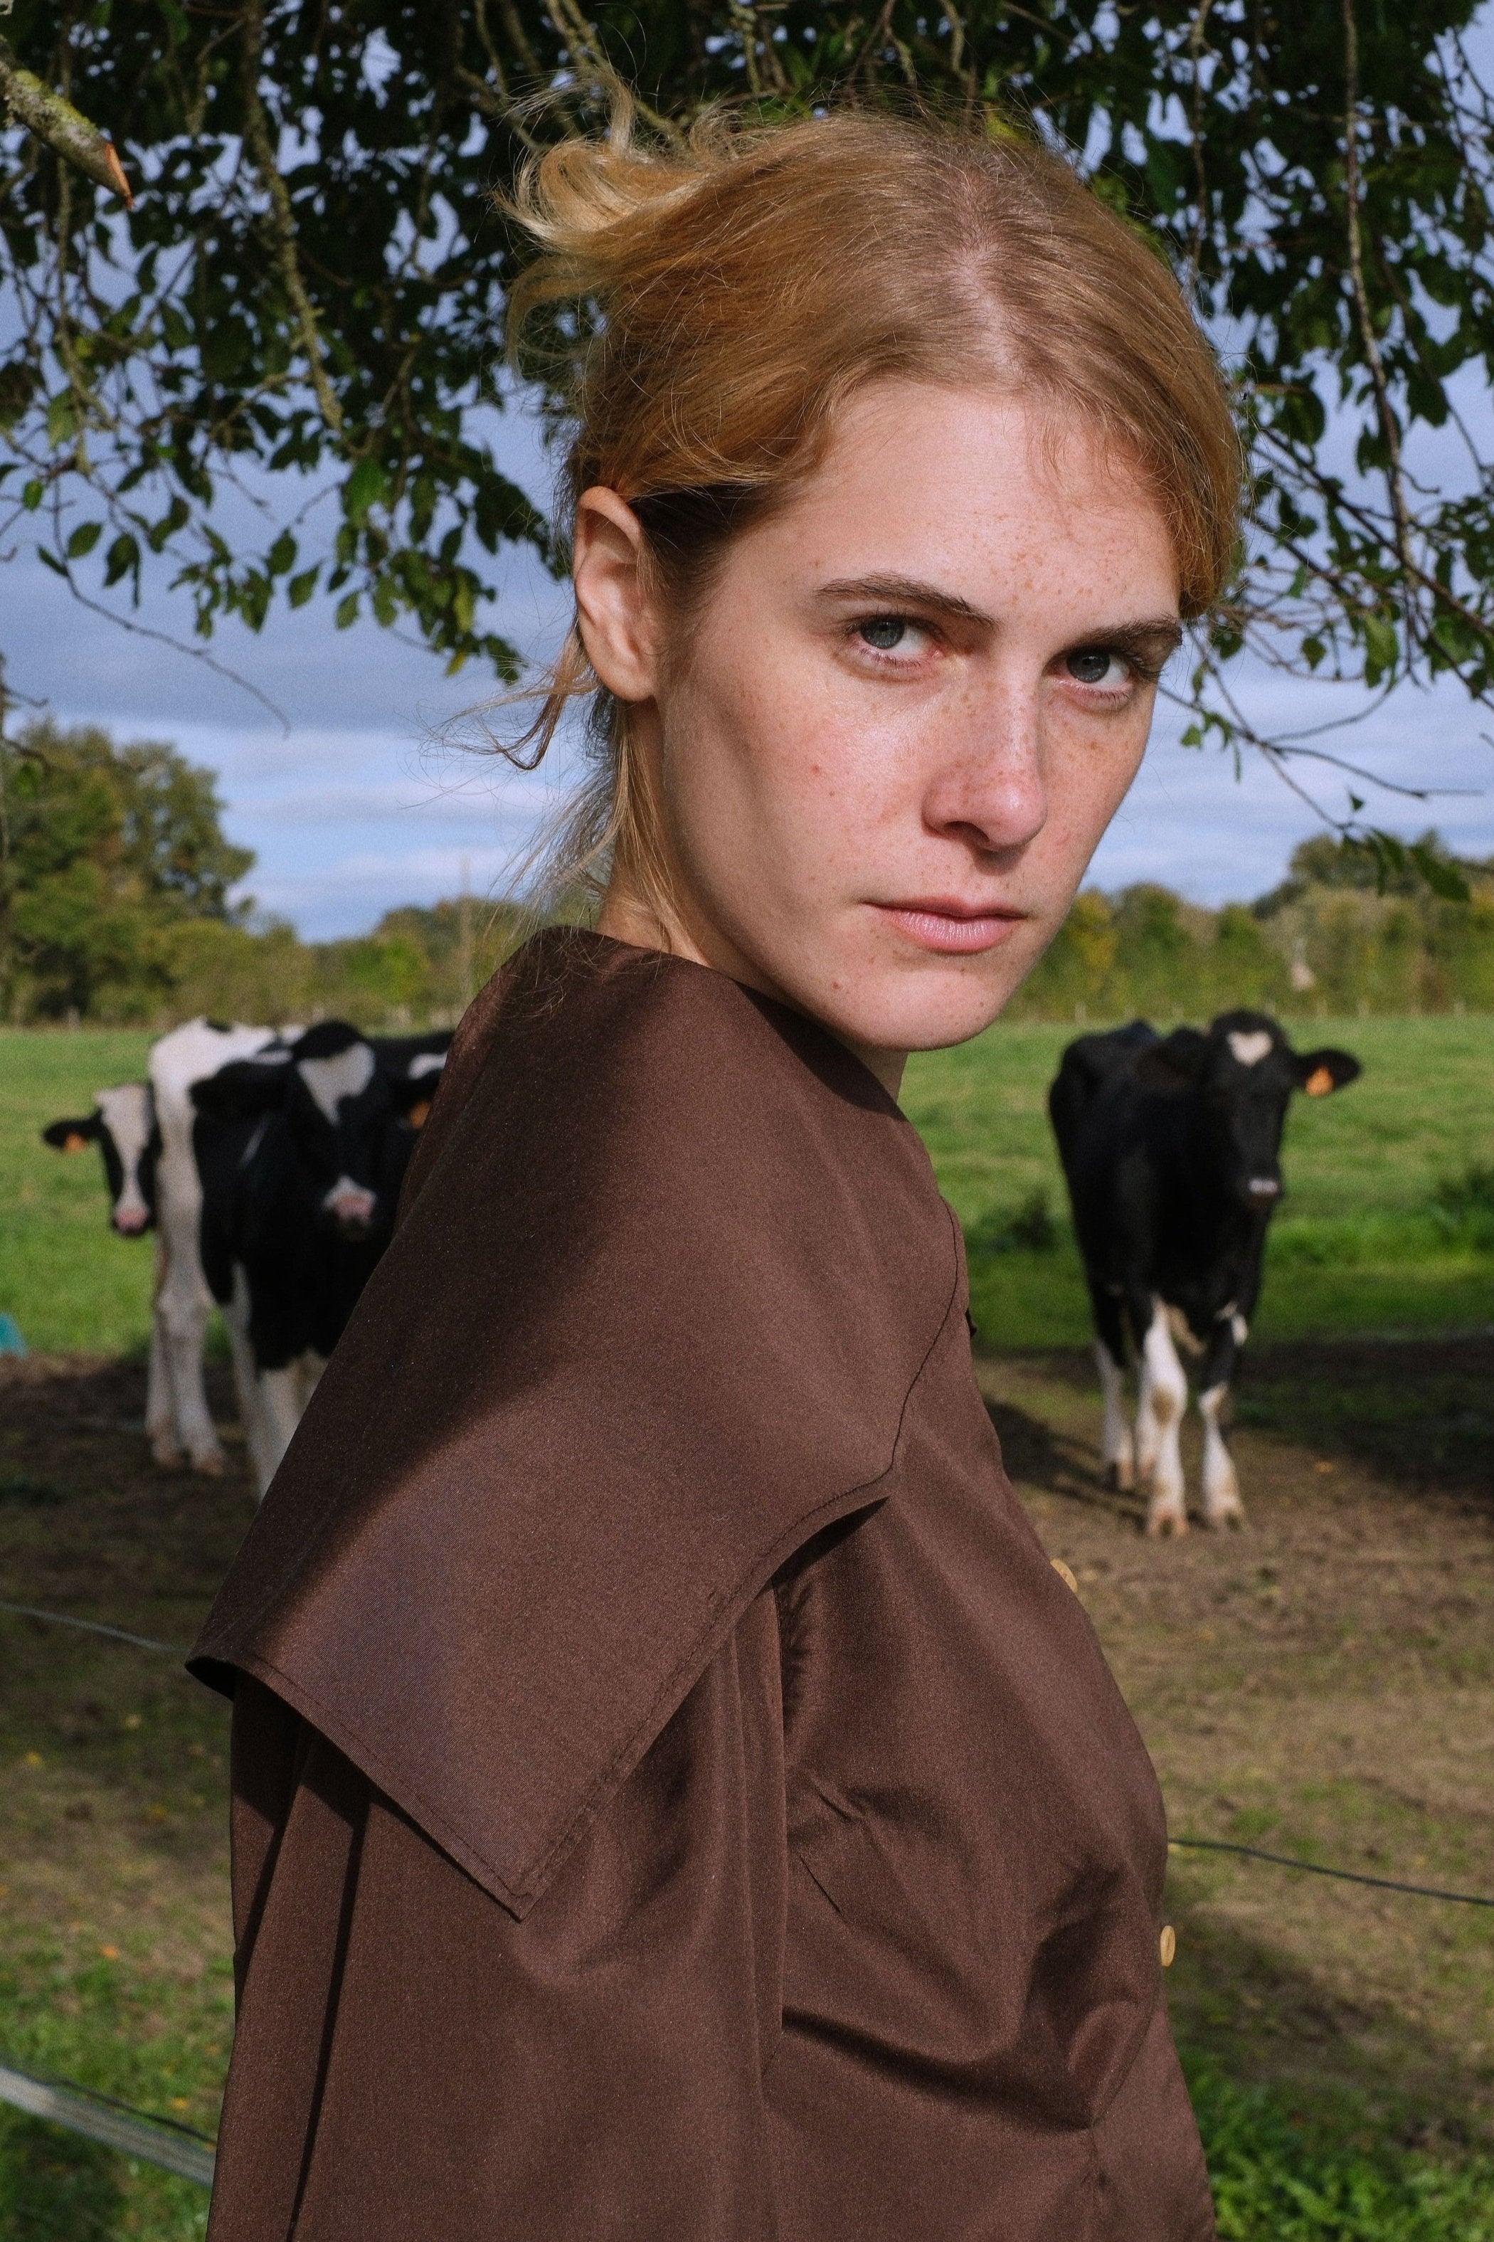
M 193 1657 L 213 2242 L 1207 2242 L 1142 1742 L 810 1022 L 545 935 Z

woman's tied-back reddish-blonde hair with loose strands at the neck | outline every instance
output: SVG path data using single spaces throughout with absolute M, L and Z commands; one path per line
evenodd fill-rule
M 837 406 L 882 379 L 994 383 L 1097 426 L 1166 516 L 1184 617 L 1218 596 L 1241 453 L 1209 345 L 1162 258 L 1034 141 L 843 110 L 707 117 L 677 146 L 644 146 L 619 94 L 608 135 L 532 157 L 505 209 L 538 244 L 509 298 L 509 352 L 534 352 L 541 307 L 594 314 L 568 379 L 561 527 L 592 484 L 626 498 L 682 621 L 729 538 L 812 473 Z M 617 863 L 657 910 L 648 773 L 574 623 L 507 751 L 538 762 L 581 695 L 592 771 L 552 886 L 594 890 Z

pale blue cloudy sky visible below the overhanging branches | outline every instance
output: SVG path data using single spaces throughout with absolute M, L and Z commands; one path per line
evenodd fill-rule
M 1490 399 L 1467 404 L 1487 428 Z M 534 424 L 516 410 L 505 415 L 502 453 L 514 480 L 543 502 L 547 462 Z M 81 608 L 25 545 L 0 585 L 11 688 L 45 702 L 63 724 L 103 724 L 121 742 L 168 740 L 209 765 L 227 834 L 258 859 L 245 892 L 305 939 L 363 933 L 397 904 L 431 904 L 462 888 L 505 892 L 536 823 L 556 807 L 554 780 L 442 744 L 442 731 L 487 691 L 476 668 L 449 679 L 435 657 L 375 623 L 339 632 L 325 601 L 276 612 L 258 637 L 229 623 L 211 641 L 218 661 L 278 704 L 283 726 L 240 684 Z M 148 590 L 135 621 L 179 637 L 191 626 L 164 587 Z M 561 587 L 536 560 L 511 554 L 496 626 L 541 657 L 563 623 Z M 1236 668 L 1234 684 L 1267 733 L 1364 704 L 1348 688 L 1247 668 Z M 1162 881 L 1214 906 L 1261 895 L 1281 879 L 1297 841 L 1321 827 L 1263 758 L 1247 756 L 1236 778 L 1229 753 L 1180 747 L 1182 724 L 1160 704 L 1142 773 L 1090 881 Z M 1494 720 L 1458 686 L 1402 688 L 1321 744 L 1380 778 L 1436 789 L 1420 803 L 1357 785 L 1375 823 L 1402 834 L 1436 825 L 1460 854 L 1494 854 Z M 1339 773 L 1299 765 L 1294 776 L 1344 812 Z

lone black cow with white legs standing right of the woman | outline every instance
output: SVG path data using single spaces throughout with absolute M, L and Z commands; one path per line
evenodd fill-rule
M 1048 1112 L 1095 1312 L 1104 1460 L 1117 1486 L 1151 1480 L 1149 1534 L 1187 1527 L 1178 1345 L 1198 1361 L 1202 1520 L 1243 1518 L 1220 1412 L 1281 1199 L 1288 1105 L 1294 1090 L 1319 1099 L 1357 1074 L 1348 1051 L 1294 1051 L 1261 1011 L 1220 1013 L 1207 1034 L 1158 1036 L 1135 1020 L 1063 1054 Z M 1128 1356 L 1140 1359 L 1135 1435 Z

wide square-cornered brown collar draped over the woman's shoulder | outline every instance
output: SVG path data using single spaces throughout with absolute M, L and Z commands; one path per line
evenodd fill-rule
M 877 1500 L 962 1307 L 850 1051 L 547 930 L 462 1022 L 191 1668 L 271 1688 L 523 1919 L 751 1596 Z

